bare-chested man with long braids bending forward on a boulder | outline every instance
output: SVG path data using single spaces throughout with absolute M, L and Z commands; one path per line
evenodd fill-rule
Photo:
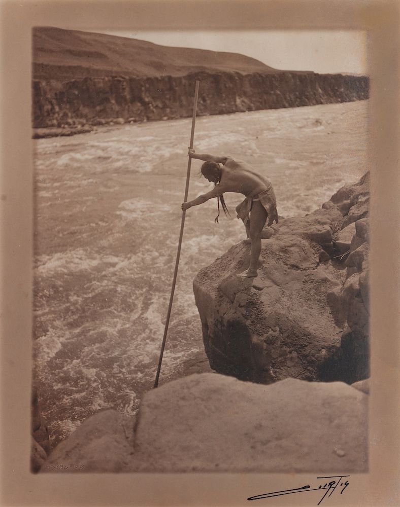
M 224 192 L 236 192 L 246 196 L 246 199 L 236 207 L 238 219 L 242 219 L 247 234 L 246 242 L 251 242 L 250 266 L 241 276 L 257 276 L 257 264 L 261 253 L 261 232 L 268 219 L 268 226 L 274 221 L 278 223 L 276 197 L 269 179 L 255 172 L 245 162 L 234 160 L 231 157 L 215 157 L 207 153 L 195 153 L 189 148 L 189 157 L 204 160 L 202 174 L 213 182 L 215 187 L 207 194 L 199 195 L 192 201 L 184 202 L 182 210 L 203 204 L 216 197 L 221 200 L 225 214 L 227 208 L 223 198 Z M 250 215 L 250 216 L 249 216 Z M 218 216 L 216 218 L 218 222 Z

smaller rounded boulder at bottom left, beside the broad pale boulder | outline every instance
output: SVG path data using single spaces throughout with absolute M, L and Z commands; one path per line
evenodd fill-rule
M 89 417 L 52 451 L 40 472 L 122 472 L 133 453 L 133 420 L 115 410 Z

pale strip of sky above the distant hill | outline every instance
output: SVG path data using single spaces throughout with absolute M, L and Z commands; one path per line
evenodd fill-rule
M 322 74 L 368 72 L 366 35 L 359 30 L 95 31 L 162 46 L 240 53 L 281 70 L 313 70 Z

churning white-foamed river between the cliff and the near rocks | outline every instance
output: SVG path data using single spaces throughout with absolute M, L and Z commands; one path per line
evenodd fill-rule
M 304 215 L 367 169 L 368 101 L 196 120 L 194 148 L 250 163 L 281 216 Z M 102 408 L 135 415 L 157 367 L 181 220 L 190 119 L 34 141 L 34 376 L 52 443 Z M 212 188 L 193 160 L 189 199 Z M 186 213 L 160 384 L 204 358 L 192 280 L 244 238 L 239 194 Z

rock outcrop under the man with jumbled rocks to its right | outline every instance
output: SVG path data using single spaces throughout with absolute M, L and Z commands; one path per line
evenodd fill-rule
M 369 173 L 265 230 L 256 278 L 239 243 L 193 282 L 210 366 L 242 380 L 369 376 Z

